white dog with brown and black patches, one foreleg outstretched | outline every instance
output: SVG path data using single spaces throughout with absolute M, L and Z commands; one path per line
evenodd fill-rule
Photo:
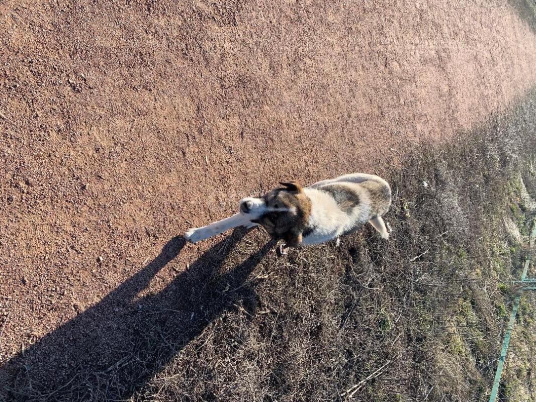
M 240 212 L 210 225 L 191 228 L 184 238 L 192 243 L 226 230 L 262 226 L 273 239 L 288 247 L 324 243 L 357 232 L 367 222 L 383 239 L 389 239 L 382 216 L 391 207 L 391 187 L 376 175 L 354 173 L 323 180 L 303 188 L 280 182 L 262 197 L 240 201 Z

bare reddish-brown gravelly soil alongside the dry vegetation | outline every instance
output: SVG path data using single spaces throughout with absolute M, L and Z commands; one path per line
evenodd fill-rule
M 33 3 L 0 5 L 0 363 L 240 197 L 381 174 L 536 82 L 502 3 Z

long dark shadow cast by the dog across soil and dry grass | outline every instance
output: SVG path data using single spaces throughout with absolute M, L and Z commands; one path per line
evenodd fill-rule
M 158 294 L 137 296 L 183 249 L 175 237 L 158 257 L 98 304 L 0 367 L 0 400 L 128 399 L 223 312 L 243 304 L 255 314 L 246 282 L 274 241 L 220 272 L 244 230 L 214 245 Z

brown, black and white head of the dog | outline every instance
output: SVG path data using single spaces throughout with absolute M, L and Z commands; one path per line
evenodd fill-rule
M 240 212 L 251 215 L 251 222 L 263 226 L 276 239 L 294 245 L 301 242 L 307 226 L 311 202 L 296 182 L 281 182 L 280 187 L 259 198 L 244 198 Z

